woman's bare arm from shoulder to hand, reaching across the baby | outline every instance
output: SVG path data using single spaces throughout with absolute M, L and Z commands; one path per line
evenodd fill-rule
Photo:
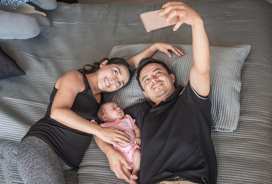
M 78 71 L 67 72 L 59 78 L 55 87 L 58 90 L 51 108 L 50 117 L 52 119 L 73 129 L 97 135 L 102 140 L 111 144 L 117 144 L 115 141 L 124 144 L 131 143 L 129 136 L 123 131 L 91 123 L 71 110 L 77 93 L 85 89 L 81 73 Z

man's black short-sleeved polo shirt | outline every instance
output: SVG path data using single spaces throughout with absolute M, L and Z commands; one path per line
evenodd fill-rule
M 141 130 L 140 183 L 174 177 L 216 183 L 217 160 L 211 139 L 211 101 L 190 82 L 154 107 L 145 101 L 125 110 Z

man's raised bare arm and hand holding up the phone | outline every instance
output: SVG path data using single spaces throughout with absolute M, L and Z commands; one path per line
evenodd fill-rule
M 169 2 L 162 6 L 160 15 L 169 13 L 168 19 L 179 16 L 176 31 L 182 24 L 191 25 L 193 36 L 194 65 L 190 71 L 190 83 L 196 93 L 201 97 L 210 94 L 210 45 L 201 16 L 189 6 L 181 2 Z

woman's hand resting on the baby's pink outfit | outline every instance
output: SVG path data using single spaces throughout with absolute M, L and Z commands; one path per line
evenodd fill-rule
M 102 129 L 96 135 L 104 142 L 110 143 L 119 148 L 123 148 L 121 145 L 116 143 L 116 141 L 130 145 L 132 142 L 130 136 L 127 133 L 124 133 L 122 130 L 118 130 L 114 127 L 101 127 Z

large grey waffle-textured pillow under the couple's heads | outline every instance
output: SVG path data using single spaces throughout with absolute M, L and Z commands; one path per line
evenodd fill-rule
M 109 58 L 120 57 L 125 60 L 150 47 L 151 44 L 119 45 L 112 49 Z M 163 61 L 176 77 L 176 85 L 185 86 L 189 81 L 190 68 L 193 65 L 192 45 L 175 45 L 184 50 L 179 57 L 172 53 L 156 52 L 153 58 Z M 241 70 L 250 45 L 234 47 L 210 47 L 211 50 L 211 101 L 212 129 L 232 132 L 236 130 L 240 113 Z M 114 101 L 121 108 L 126 108 L 145 100 L 138 85 L 136 74 L 131 82 L 122 89 L 104 95 L 105 101 Z

